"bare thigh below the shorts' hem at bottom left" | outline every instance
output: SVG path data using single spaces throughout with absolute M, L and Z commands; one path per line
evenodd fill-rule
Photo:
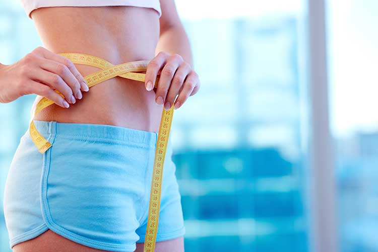
M 41 235 L 18 243 L 13 252 L 104 252 L 106 250 L 88 247 L 69 240 L 48 229 Z

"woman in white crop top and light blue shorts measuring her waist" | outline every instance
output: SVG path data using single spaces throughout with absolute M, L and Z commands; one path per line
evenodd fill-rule
M 53 145 L 41 154 L 29 131 L 20 140 L 4 195 L 10 246 L 142 251 L 163 107 L 179 108 L 200 87 L 174 0 L 22 1 L 44 47 L 0 64 L 0 102 L 27 94 L 38 95 L 33 106 L 43 97 L 53 101 L 33 118 Z M 62 52 L 112 64 L 150 60 L 146 81 L 117 76 L 89 90 L 83 76 L 100 69 L 74 64 Z M 183 251 L 171 154 L 169 141 L 156 251 Z

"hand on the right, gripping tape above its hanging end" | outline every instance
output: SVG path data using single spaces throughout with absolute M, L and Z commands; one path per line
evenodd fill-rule
M 145 87 L 151 91 L 160 73 L 158 87 L 155 94 L 155 102 L 164 104 L 167 110 L 171 107 L 174 99 L 174 109 L 178 109 L 190 96 L 195 95 L 200 88 L 198 74 L 191 65 L 185 62 L 178 54 L 159 52 L 147 65 Z

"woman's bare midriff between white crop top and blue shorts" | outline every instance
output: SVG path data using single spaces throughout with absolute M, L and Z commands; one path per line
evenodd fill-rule
M 91 54 L 113 64 L 151 60 L 159 38 L 159 14 L 151 8 L 50 7 L 31 13 L 43 46 L 54 52 Z M 83 76 L 99 70 L 75 64 Z M 37 97 L 34 105 L 41 99 Z M 34 119 L 67 123 L 108 124 L 157 132 L 163 107 L 144 83 L 114 77 L 103 81 L 76 104 L 55 104 Z

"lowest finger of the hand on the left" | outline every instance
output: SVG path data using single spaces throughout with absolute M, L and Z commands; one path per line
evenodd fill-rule
M 44 85 L 43 83 L 37 82 L 35 80 L 30 80 L 27 83 L 26 92 L 29 94 L 36 94 L 54 102 L 56 105 L 62 108 L 69 108 L 70 105 L 65 99 L 63 99 L 59 94 L 54 92 L 51 87 Z

